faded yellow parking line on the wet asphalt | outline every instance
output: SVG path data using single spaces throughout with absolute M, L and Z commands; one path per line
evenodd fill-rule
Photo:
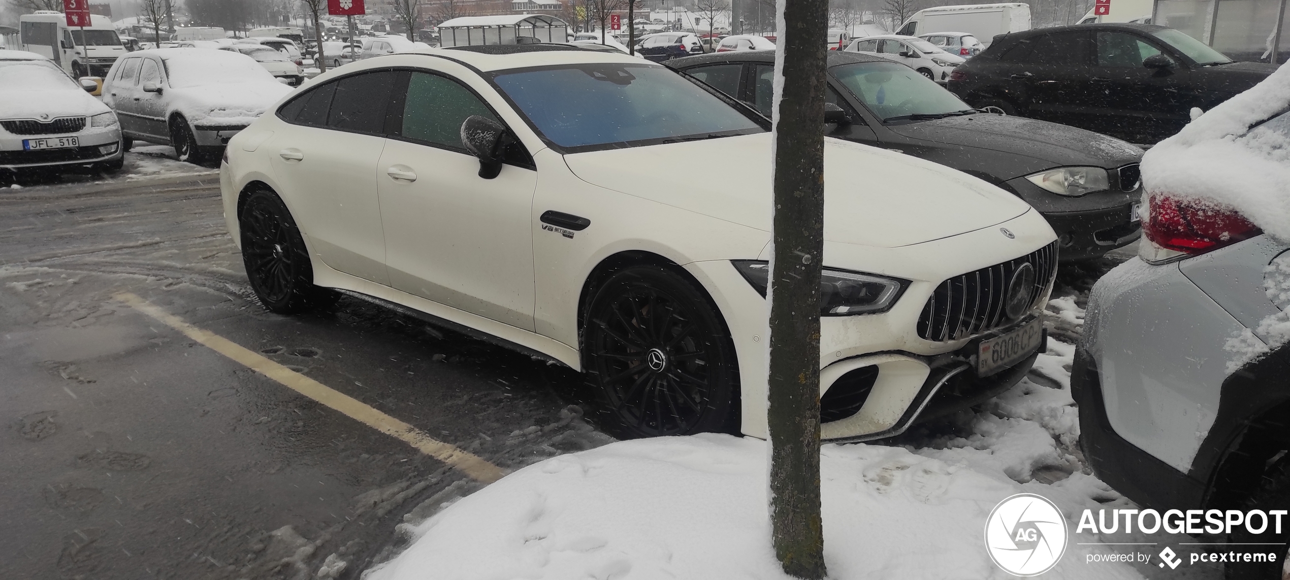
M 250 351 L 209 330 L 190 325 L 188 322 L 184 322 L 183 318 L 161 309 L 156 304 L 152 304 L 135 294 L 121 293 L 114 298 L 161 321 L 166 326 L 183 333 L 190 339 L 206 345 L 212 351 L 232 358 L 248 369 L 281 383 L 292 391 L 335 409 L 346 416 L 356 419 L 373 429 L 393 436 L 395 438 L 415 447 L 418 451 L 457 468 L 476 481 L 491 483 L 501 479 L 502 476 L 506 474 L 502 468 L 493 465 L 479 455 L 462 451 L 452 443 L 439 441 L 415 427 L 372 409 L 348 394 L 279 365 L 258 352 Z

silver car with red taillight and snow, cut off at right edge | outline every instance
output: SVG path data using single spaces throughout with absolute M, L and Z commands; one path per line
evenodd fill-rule
M 1093 287 L 1076 351 L 1084 455 L 1158 513 L 1287 509 L 1290 66 L 1160 142 L 1142 173 L 1139 258 Z M 1290 526 L 1228 541 L 1280 556 L 1224 559 L 1227 577 L 1281 577 Z

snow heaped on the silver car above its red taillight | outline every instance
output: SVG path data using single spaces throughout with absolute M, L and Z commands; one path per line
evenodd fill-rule
M 1290 240 L 1290 128 L 1249 130 L 1287 108 L 1290 66 L 1282 64 L 1148 151 L 1143 183 L 1152 192 L 1231 206 L 1264 232 Z

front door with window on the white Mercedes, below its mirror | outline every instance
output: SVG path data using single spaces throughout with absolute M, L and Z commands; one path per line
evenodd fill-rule
M 462 122 L 498 117 L 457 79 L 413 71 L 401 101 L 377 178 L 390 284 L 534 330 L 531 161 L 516 152 L 495 178 L 479 175 Z

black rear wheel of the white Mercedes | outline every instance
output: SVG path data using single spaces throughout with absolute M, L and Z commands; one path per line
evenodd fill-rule
M 313 285 L 313 266 L 304 240 L 276 193 L 253 192 L 239 224 L 246 277 L 264 308 L 290 314 L 335 302 L 334 291 Z

